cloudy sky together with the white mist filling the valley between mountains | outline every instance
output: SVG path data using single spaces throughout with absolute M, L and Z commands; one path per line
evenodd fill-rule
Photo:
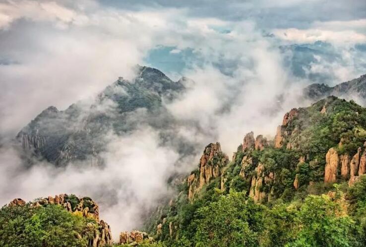
M 366 2 L 0 0 L 1 203 L 73 192 L 90 193 L 103 205 L 100 188 L 107 188 L 118 202 L 101 207 L 101 218 L 120 231 L 141 223 L 140 205 L 153 206 L 171 193 L 163 182 L 177 172 L 172 163 L 179 154 L 159 145 L 159 133 L 147 126 L 112 134 L 104 171 L 60 171 L 42 163 L 19 173 L 16 152 L 1 149 L 47 107 L 64 110 L 119 76 L 132 79 L 135 64 L 194 81 L 166 107 L 205 131 L 182 127 L 177 135 L 196 143 L 197 153 L 220 141 L 230 157 L 251 130 L 273 137 L 283 114 L 306 104 L 298 102 L 306 85 L 333 86 L 366 73 Z M 197 160 L 191 157 L 184 172 Z M 9 183 L 17 186 L 9 189 Z

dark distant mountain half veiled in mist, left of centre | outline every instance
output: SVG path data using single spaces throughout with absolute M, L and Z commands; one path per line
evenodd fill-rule
M 105 150 L 111 131 L 122 134 L 144 121 L 169 130 L 167 123 L 172 119 L 162 102 L 178 97 L 185 80 L 174 82 L 155 68 L 137 66 L 133 81 L 119 77 L 92 104 L 79 102 L 64 111 L 47 108 L 17 134 L 17 139 L 24 149 L 58 166 L 80 160 L 103 165 L 99 154 Z M 146 112 L 136 120 L 133 113 L 138 109 Z

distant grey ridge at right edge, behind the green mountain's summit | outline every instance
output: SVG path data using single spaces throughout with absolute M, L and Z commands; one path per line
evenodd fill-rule
M 361 104 L 366 103 L 366 74 L 359 78 L 340 83 L 334 87 L 314 83 L 304 89 L 305 96 L 319 100 L 326 96 L 334 95 L 345 99 L 357 98 Z

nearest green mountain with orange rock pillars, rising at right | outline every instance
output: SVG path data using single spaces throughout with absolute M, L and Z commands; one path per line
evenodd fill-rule
M 366 108 L 329 96 L 273 140 L 249 132 L 231 161 L 207 145 L 145 230 L 177 247 L 365 246 L 365 174 Z

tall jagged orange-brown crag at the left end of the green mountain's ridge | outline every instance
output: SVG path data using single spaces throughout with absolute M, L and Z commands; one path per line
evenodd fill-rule
M 220 143 L 216 142 L 207 145 L 199 162 L 199 175 L 192 174 L 187 178 L 188 198 L 192 200 L 194 194 L 203 185 L 207 184 L 212 178 L 220 177 L 222 169 L 228 161 L 228 156 L 221 152 Z

